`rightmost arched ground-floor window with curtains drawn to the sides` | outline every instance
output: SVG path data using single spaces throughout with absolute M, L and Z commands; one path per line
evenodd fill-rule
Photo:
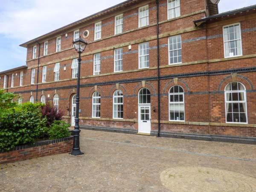
M 231 82 L 225 87 L 226 122 L 247 123 L 246 90 L 243 84 Z

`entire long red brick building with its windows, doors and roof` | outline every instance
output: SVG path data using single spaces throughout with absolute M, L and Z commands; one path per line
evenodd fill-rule
M 0 87 L 73 124 L 79 36 L 82 128 L 256 142 L 256 6 L 127 0 L 20 45 L 26 66 Z

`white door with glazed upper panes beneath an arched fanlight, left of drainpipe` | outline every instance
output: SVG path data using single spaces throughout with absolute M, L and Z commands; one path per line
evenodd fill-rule
M 139 105 L 139 133 L 150 134 L 151 131 L 150 105 Z

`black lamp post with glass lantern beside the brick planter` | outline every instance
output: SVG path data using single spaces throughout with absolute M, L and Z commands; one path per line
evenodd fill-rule
M 80 129 L 79 129 L 79 96 L 80 96 L 80 65 L 81 65 L 81 53 L 84 51 L 87 43 L 81 39 L 73 41 L 76 51 L 79 53 L 78 60 L 78 74 L 77 74 L 77 86 L 76 86 L 76 117 L 75 117 L 75 128 L 73 130 L 73 149 L 71 151 L 72 155 L 81 155 L 84 154 L 80 151 Z

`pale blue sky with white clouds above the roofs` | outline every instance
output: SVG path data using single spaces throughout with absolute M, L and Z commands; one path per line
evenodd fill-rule
M 20 44 L 123 1 L 0 0 L 0 71 L 26 65 L 26 48 Z M 254 4 L 220 0 L 219 12 Z

